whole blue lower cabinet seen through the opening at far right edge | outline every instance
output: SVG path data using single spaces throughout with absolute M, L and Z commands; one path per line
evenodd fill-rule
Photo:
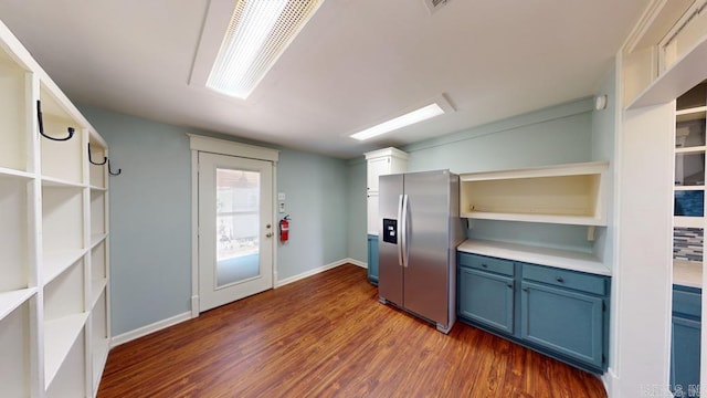
M 701 291 L 673 287 L 671 390 L 675 397 L 696 397 L 699 388 Z M 692 395 L 690 395 L 692 394 Z

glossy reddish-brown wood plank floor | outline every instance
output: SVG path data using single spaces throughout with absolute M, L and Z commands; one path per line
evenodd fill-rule
M 110 397 L 605 397 L 599 378 L 382 305 L 341 265 L 114 348 Z

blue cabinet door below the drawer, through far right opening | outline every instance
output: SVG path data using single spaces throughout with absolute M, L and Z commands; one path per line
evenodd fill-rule
M 700 328 L 699 321 L 673 316 L 671 389 L 676 397 L 690 397 L 699 388 Z

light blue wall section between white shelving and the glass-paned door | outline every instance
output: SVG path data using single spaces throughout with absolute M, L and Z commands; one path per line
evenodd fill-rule
M 180 127 L 81 107 L 110 149 L 112 332 L 190 311 L 191 164 Z

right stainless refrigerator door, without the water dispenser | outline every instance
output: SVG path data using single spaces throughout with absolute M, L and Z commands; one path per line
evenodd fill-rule
M 404 307 L 439 326 L 449 324 L 450 172 L 405 175 Z M 407 252 L 407 253 L 404 253 Z

